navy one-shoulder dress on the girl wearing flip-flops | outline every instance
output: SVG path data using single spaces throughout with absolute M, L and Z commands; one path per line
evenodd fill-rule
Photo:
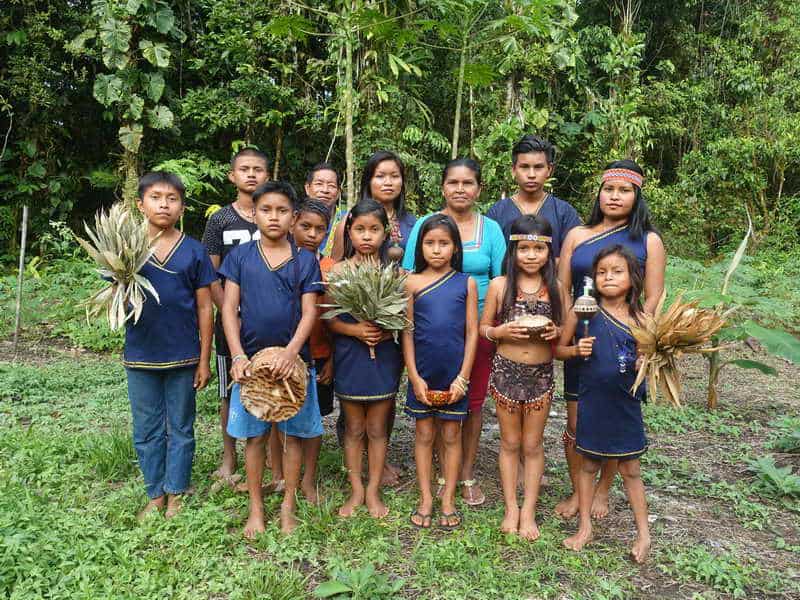
M 461 370 L 467 332 L 469 275 L 450 271 L 414 295 L 414 358 L 417 372 L 429 390 L 446 391 Z M 469 394 L 445 406 L 428 406 L 417 400 L 408 385 L 406 413 L 415 419 L 467 418 Z

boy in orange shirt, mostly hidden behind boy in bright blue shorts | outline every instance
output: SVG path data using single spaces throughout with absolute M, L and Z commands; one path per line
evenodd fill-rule
M 319 259 L 322 276 L 333 267 L 333 259 L 320 257 L 319 249 L 327 236 L 331 214 L 328 207 L 319 200 L 307 198 L 297 209 L 297 218 L 292 226 L 292 238 L 298 248 L 305 248 Z M 333 360 L 328 330 L 321 318 L 314 322 L 309 338 L 311 359 L 317 372 L 316 381 L 310 382 L 317 387 L 319 413 L 324 417 L 333 412 Z M 303 480 L 300 489 L 306 500 L 312 504 L 319 501 L 317 495 L 317 461 L 322 447 L 322 436 L 303 440 Z

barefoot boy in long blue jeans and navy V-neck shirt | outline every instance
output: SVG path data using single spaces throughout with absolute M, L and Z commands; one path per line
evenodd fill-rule
M 217 274 L 202 244 L 177 229 L 184 188 L 172 173 L 139 180 L 137 206 L 156 252 L 139 274 L 158 292 L 149 293 L 142 314 L 125 329 L 123 364 L 133 415 L 133 441 L 150 502 L 140 518 L 164 507 L 167 518 L 181 508 L 194 459 L 195 393 L 211 372 L 213 308 L 209 286 Z

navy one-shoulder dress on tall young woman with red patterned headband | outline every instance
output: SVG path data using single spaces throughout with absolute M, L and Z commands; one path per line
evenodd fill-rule
M 631 237 L 628 225 L 620 225 L 603 233 L 598 233 L 575 246 L 572 251 L 570 270 L 572 272 L 572 300 L 573 302 L 583 294 L 583 278 L 591 277 L 594 257 L 609 246 L 621 244 L 633 252 L 639 261 L 639 266 L 644 275 L 644 265 L 647 261 L 647 234 L 641 239 Z M 576 337 L 583 337 L 583 323 L 578 322 Z M 577 400 L 578 398 L 578 363 L 581 359 L 564 361 L 564 398 Z

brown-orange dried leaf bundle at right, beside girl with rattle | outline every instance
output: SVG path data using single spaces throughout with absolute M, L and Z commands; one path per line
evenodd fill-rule
M 680 296 L 666 312 L 663 312 L 663 306 L 664 295 L 655 316 L 645 315 L 638 327 L 631 327 L 642 357 L 631 391 L 635 392 L 646 378 L 654 398 L 660 389 L 668 402 L 680 407 L 681 381 L 677 361 L 683 354 L 719 351 L 719 347 L 707 344 L 725 326 L 727 313 L 698 308 L 697 301 L 683 302 Z

